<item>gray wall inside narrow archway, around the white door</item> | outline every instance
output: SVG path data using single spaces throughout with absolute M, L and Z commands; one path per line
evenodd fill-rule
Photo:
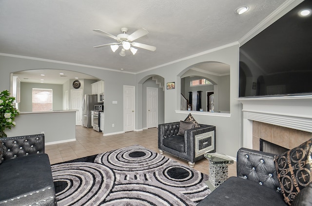
M 143 83 L 143 91 L 142 91 L 142 102 L 143 102 L 143 109 L 142 109 L 142 128 L 147 127 L 147 109 L 146 109 L 146 87 L 154 87 L 158 88 L 158 124 L 164 123 L 164 94 L 165 92 L 162 90 L 162 88 L 159 88 L 159 86 L 156 84 L 156 81 L 152 80 L 152 77 L 147 79 Z

